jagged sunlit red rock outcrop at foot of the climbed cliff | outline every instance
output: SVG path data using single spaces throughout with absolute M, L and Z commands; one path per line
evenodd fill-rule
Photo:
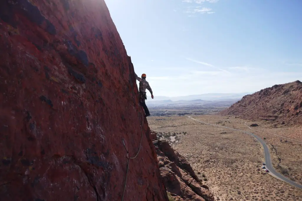
M 213 201 L 214 196 L 195 175 L 188 161 L 167 141 L 154 140 L 165 187 L 175 200 Z

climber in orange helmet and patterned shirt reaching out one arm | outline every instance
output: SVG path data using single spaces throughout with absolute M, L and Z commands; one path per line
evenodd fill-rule
M 140 82 L 140 87 L 139 87 L 139 91 L 140 91 L 140 105 L 143 106 L 144 110 L 145 110 L 145 117 L 150 116 L 150 112 L 147 108 L 146 102 L 145 100 L 147 99 L 147 95 L 146 95 L 146 89 L 149 90 L 149 92 L 151 93 L 151 98 L 153 99 L 153 92 L 152 89 L 149 85 L 149 83 L 146 80 L 146 74 L 142 74 L 142 78 L 138 77 L 136 73 L 135 74 L 135 78 Z

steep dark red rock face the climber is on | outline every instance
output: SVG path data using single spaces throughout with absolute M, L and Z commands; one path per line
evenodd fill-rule
M 124 200 L 168 200 L 103 0 L 1 1 L 0 52 L 1 201 L 121 200 L 122 139 Z

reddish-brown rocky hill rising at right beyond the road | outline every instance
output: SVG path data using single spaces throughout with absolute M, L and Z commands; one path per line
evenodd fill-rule
M 274 85 L 260 90 L 221 111 L 249 120 L 267 120 L 276 125 L 302 125 L 302 83 Z

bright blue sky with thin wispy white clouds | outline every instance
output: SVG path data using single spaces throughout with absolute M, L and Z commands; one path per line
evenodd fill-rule
M 105 0 L 154 97 L 302 81 L 300 0 Z

